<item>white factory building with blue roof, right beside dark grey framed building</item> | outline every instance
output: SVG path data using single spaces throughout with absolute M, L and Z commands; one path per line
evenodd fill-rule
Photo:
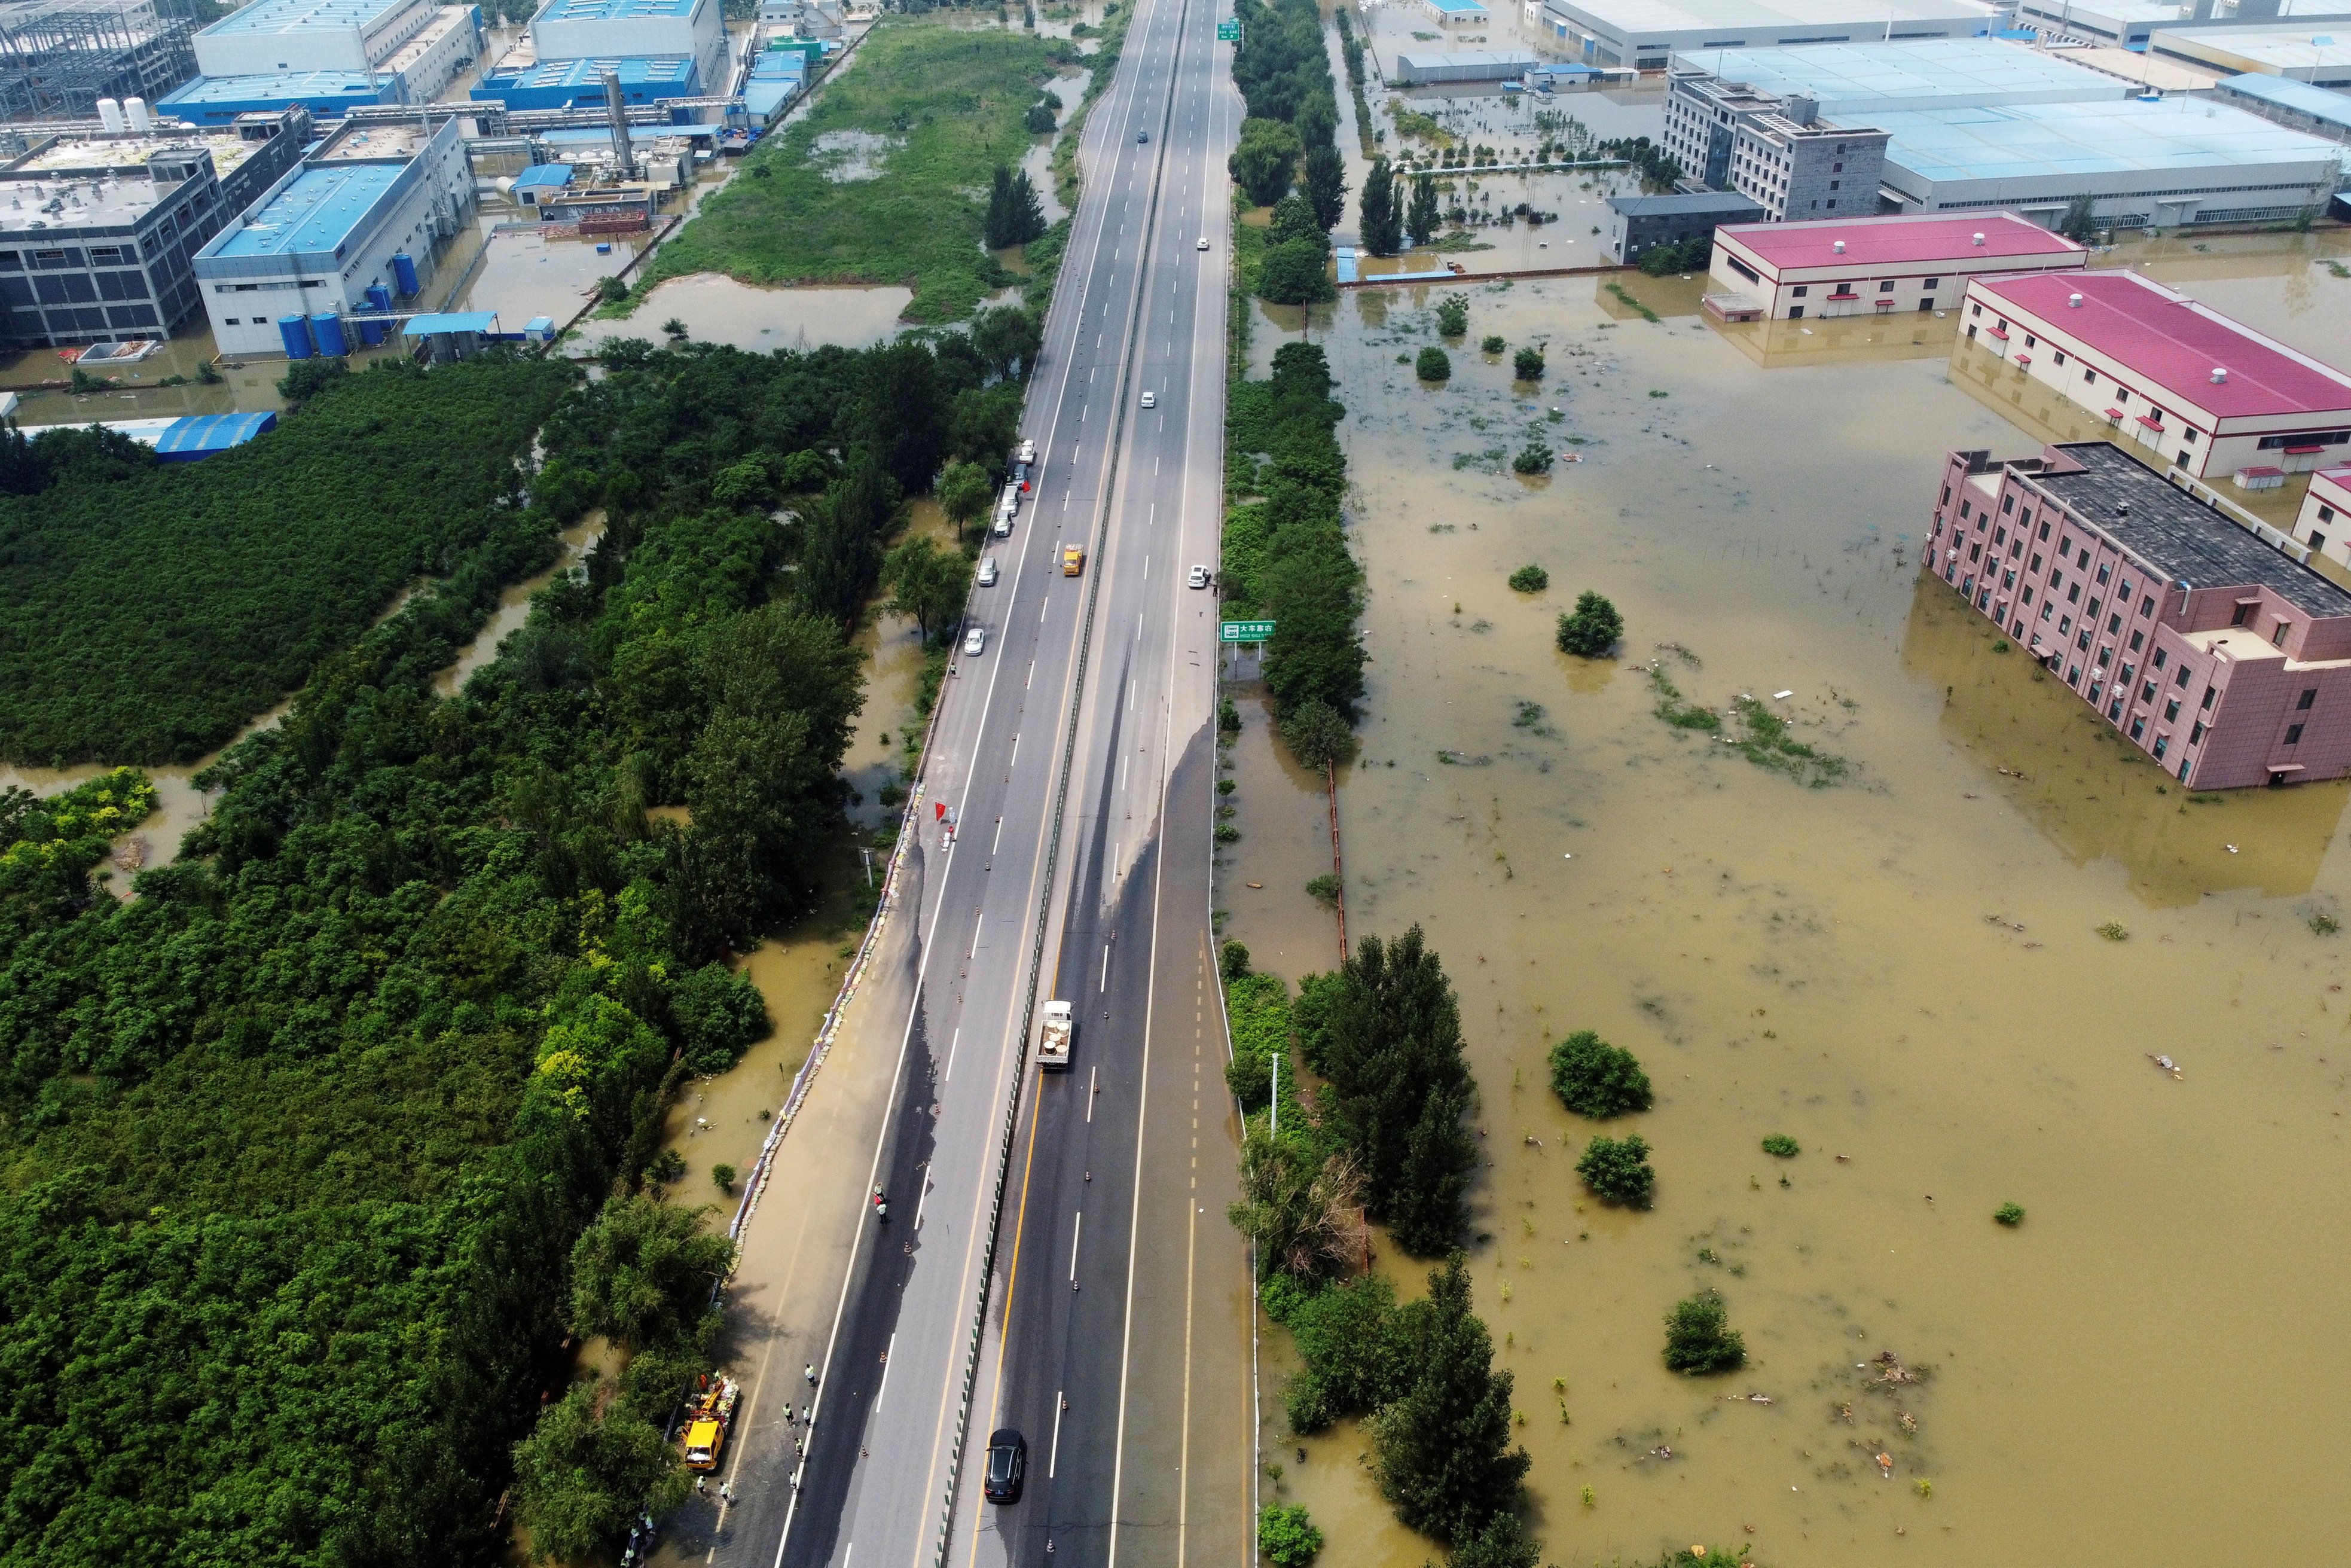
M 197 252 L 223 355 L 341 355 L 421 308 L 437 244 L 473 221 L 458 115 L 421 118 L 343 122 Z

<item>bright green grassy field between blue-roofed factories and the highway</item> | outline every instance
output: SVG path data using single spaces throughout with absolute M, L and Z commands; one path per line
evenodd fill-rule
M 762 141 L 656 252 L 637 299 L 665 277 L 726 273 L 755 284 L 905 284 L 910 320 L 971 315 L 990 289 L 1020 280 L 980 249 L 987 176 L 1020 162 L 1027 106 L 1077 59 L 1063 40 L 945 16 L 884 21 L 809 115 Z M 1100 56 L 1086 63 L 1100 68 Z M 825 176 L 839 160 L 818 139 L 842 132 L 891 139 L 872 179 Z

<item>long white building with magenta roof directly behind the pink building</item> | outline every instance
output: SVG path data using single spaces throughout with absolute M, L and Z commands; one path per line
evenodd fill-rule
M 2186 475 L 2271 489 L 2351 456 L 2351 376 L 2130 270 L 1977 277 L 1961 341 Z

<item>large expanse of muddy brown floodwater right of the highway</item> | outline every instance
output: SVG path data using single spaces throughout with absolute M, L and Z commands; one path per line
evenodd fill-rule
M 1444 388 L 1396 364 L 1441 287 L 1352 294 L 1314 329 L 1371 581 L 1347 924 L 1420 922 L 1460 992 L 1488 1157 L 1472 1272 L 1545 1559 L 2306 1554 L 2351 1512 L 2351 785 L 2184 795 L 1918 578 L 1942 454 L 2034 447 L 1947 360 L 1766 367 L 1603 284 L 1469 289 L 1472 346 L 1547 343 L 1540 388 L 1474 348 Z M 1262 367 L 1279 339 L 1255 339 Z M 1580 461 L 1514 477 L 1528 430 Z M 1547 592 L 1505 585 L 1526 562 Z M 1585 588 L 1625 614 L 1617 663 L 1552 646 Z M 1846 780 L 1667 726 L 1653 656 L 1695 703 L 1777 708 Z M 1335 954 L 1302 891 L 1328 867 L 1321 780 L 1241 708 L 1218 905 L 1295 980 Z M 1655 1147 L 1648 1213 L 1573 1175 L 1596 1128 L 1545 1053 L 1578 1027 L 1657 1084 L 1608 1128 Z M 2022 1227 L 1991 1222 L 2005 1201 Z M 1418 1288 L 1425 1265 L 1380 1267 Z M 1749 1366 L 1669 1375 L 1662 1316 L 1704 1286 Z M 1921 1382 L 1871 1382 L 1881 1352 Z M 1305 1502 L 1333 1561 L 1420 1568 L 1364 1434 L 1284 1432 L 1288 1354 L 1270 1328 L 1267 1500 Z

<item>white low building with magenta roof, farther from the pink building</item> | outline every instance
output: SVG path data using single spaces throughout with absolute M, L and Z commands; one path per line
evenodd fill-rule
M 1714 280 L 1773 320 L 1951 310 L 1984 273 L 2081 270 L 2090 252 L 2012 212 L 1726 223 Z

